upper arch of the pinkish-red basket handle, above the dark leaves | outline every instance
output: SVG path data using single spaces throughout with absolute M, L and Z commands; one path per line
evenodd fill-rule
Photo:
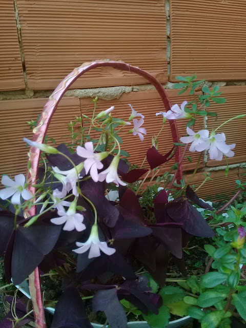
M 136 73 L 140 76 L 145 77 L 150 83 L 156 88 L 157 92 L 159 93 L 161 100 L 163 102 L 163 105 L 166 109 L 166 111 L 171 109 L 171 103 L 170 99 L 165 91 L 165 89 L 162 87 L 160 82 L 150 73 L 141 70 L 138 67 L 131 66 L 129 64 L 126 64 L 122 61 L 113 61 L 113 60 L 96 60 L 91 61 L 82 64 L 81 66 L 75 68 L 70 74 L 68 74 L 63 81 L 57 86 L 57 88 L 54 90 L 54 92 L 49 97 L 49 100 L 47 101 L 44 110 L 42 114 L 40 115 L 40 118 L 38 120 L 37 126 L 33 129 L 33 140 L 36 142 L 44 142 L 45 135 L 47 133 L 50 120 L 59 104 L 60 99 L 63 97 L 65 92 L 69 89 L 69 87 L 76 81 L 76 79 L 83 75 L 84 73 L 92 70 L 93 68 L 97 67 L 103 67 L 103 66 L 110 66 L 118 70 L 124 70 L 128 72 Z M 178 129 L 176 125 L 175 120 L 169 120 L 171 133 L 173 142 L 179 142 L 179 135 L 178 135 Z M 31 161 L 31 168 L 27 172 L 28 176 L 28 182 L 31 184 L 35 184 L 37 171 L 38 171 L 38 163 L 39 163 L 39 156 L 40 156 L 40 150 L 36 149 L 34 147 L 30 148 L 30 151 L 28 153 L 29 160 Z M 175 154 L 175 160 L 176 162 L 180 161 L 180 148 L 177 148 L 176 154 Z M 179 165 L 178 168 L 178 174 L 177 179 L 179 180 L 182 177 L 182 166 Z M 29 188 L 29 191 L 31 193 L 35 193 L 35 188 L 31 187 Z M 36 207 L 33 206 L 30 211 L 29 215 L 35 215 Z

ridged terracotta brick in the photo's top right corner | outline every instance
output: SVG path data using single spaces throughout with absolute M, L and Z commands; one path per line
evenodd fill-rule
M 171 81 L 245 79 L 245 0 L 170 0 Z

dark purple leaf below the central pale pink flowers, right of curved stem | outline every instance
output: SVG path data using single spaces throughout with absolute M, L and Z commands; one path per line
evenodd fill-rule
M 88 197 L 94 204 L 97 214 L 106 226 L 112 228 L 118 219 L 118 209 L 105 197 L 105 188 L 103 182 L 94 182 L 87 180 L 81 192 Z

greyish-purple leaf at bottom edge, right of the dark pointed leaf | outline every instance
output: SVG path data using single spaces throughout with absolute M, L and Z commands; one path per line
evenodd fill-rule
M 92 309 L 103 311 L 113 328 L 127 328 L 127 316 L 117 297 L 117 289 L 97 292 L 92 299 Z

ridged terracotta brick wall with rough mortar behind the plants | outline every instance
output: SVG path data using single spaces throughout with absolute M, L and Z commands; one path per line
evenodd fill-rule
M 152 73 L 167 89 L 172 104 L 189 101 L 177 95 L 175 76 L 196 73 L 208 86 L 221 86 L 227 103 L 214 104 L 217 122 L 246 113 L 246 2 L 244 0 L 1 0 L 0 3 L 0 174 L 25 172 L 27 149 L 23 136 L 32 137 L 26 121 L 36 119 L 47 97 L 68 73 L 85 61 L 109 58 L 124 60 Z M 146 116 L 148 135 L 143 142 L 126 136 L 125 150 L 140 163 L 157 134 L 163 107 L 157 92 L 142 77 L 111 68 L 99 68 L 79 78 L 52 118 L 49 137 L 58 142 L 67 134 L 66 124 L 93 108 L 112 105 L 120 116 L 131 103 Z M 220 170 L 226 162 L 203 156 L 200 173 L 213 171 L 213 181 L 200 188 L 203 197 L 219 191 L 230 196 L 235 179 L 242 177 L 246 162 L 246 118 L 223 128 L 229 143 L 236 142 L 235 157 L 229 159 L 228 177 Z M 179 132 L 185 134 L 178 121 Z M 222 131 L 222 130 L 221 130 Z M 170 149 L 171 133 L 165 127 L 161 152 Z M 187 174 L 194 169 L 187 159 Z M 218 167 L 218 165 L 221 166 Z

